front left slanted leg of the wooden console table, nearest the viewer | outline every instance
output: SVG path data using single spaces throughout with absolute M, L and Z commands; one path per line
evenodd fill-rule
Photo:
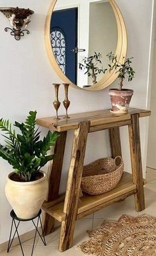
M 66 214 L 65 221 L 61 223 L 61 235 L 59 240 L 59 250 L 65 251 L 72 246 L 75 221 L 77 218 L 77 207 L 79 201 L 79 190 L 83 173 L 83 161 L 90 122 L 81 122 L 79 128 L 75 130 L 73 139 L 73 149 L 71 153 L 71 163 L 65 194 L 63 211 Z

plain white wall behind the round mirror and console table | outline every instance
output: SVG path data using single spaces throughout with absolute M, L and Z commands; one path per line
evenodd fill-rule
M 30 35 L 24 36 L 19 42 L 5 32 L 5 26 L 9 25 L 6 17 L 0 13 L 0 116 L 10 120 L 22 121 L 29 110 L 38 110 L 38 117 L 54 115 L 52 102 L 54 101 L 53 82 L 60 79 L 52 69 L 44 46 L 44 22 L 51 0 L 0 0 L 1 7 L 17 6 L 30 7 L 35 11 L 30 24 Z M 131 87 L 135 90 L 132 106 L 146 108 L 147 77 L 150 48 L 150 27 L 152 1 L 147 0 L 118 0 L 116 1 L 124 15 L 128 28 L 128 56 L 134 56 L 134 69 L 136 79 Z M 114 83 L 115 85 L 115 83 Z M 128 85 L 130 86 L 130 85 Z M 63 88 L 59 93 L 60 101 L 63 101 Z M 98 92 L 81 91 L 70 88 L 69 99 L 71 107 L 69 113 L 83 112 L 110 108 L 108 89 Z M 61 105 L 59 114 L 64 114 Z M 141 145 L 143 155 L 143 167 L 145 172 L 146 145 L 144 138 L 147 136 L 147 120 L 141 120 Z M 130 157 L 128 149 L 127 128 L 122 128 L 122 146 L 126 170 L 130 170 Z M 42 131 L 47 132 L 42 128 Z M 65 161 L 63 164 L 63 177 L 67 177 L 67 168 L 70 156 L 70 142 L 72 132 L 69 132 Z M 110 155 L 107 132 L 89 134 L 87 155 L 85 163 L 98 157 Z M 1 142 L 3 139 L 1 138 Z M 9 212 L 11 207 L 5 198 L 5 179 L 11 167 L 2 159 L 0 160 L 0 243 L 8 240 L 11 220 Z M 61 191 L 65 188 L 65 179 L 61 182 Z M 124 213 L 124 212 L 123 212 Z M 28 224 L 22 226 L 22 233 L 30 230 Z

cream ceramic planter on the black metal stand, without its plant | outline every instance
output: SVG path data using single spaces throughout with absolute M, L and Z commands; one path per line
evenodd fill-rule
M 46 173 L 41 172 L 44 174 L 44 177 L 37 181 L 12 181 L 10 177 L 13 172 L 7 177 L 7 184 L 5 186 L 7 200 L 13 207 L 17 217 L 21 219 L 35 217 L 46 199 L 48 181 L 46 179 Z

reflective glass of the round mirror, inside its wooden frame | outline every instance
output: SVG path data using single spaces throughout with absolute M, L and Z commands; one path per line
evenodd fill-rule
M 118 28 L 109 1 L 58 0 L 50 23 L 56 62 L 79 87 L 95 85 L 108 67 L 108 52 L 116 52 Z

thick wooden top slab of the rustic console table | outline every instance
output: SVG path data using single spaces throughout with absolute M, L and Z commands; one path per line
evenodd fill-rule
M 110 112 L 110 109 L 106 110 L 97 110 L 90 112 L 82 112 L 77 114 L 69 114 L 70 118 L 63 118 L 59 116 L 60 120 L 55 120 L 55 117 L 43 117 L 36 120 L 36 124 L 39 126 L 46 127 L 50 130 L 56 130 L 58 132 L 65 132 L 68 130 L 75 130 L 79 128 L 80 122 L 91 122 L 91 128 L 95 126 L 102 126 L 111 124 L 113 127 L 114 124 L 123 122 L 123 125 L 126 125 L 127 121 L 130 122 L 132 114 L 139 114 L 139 117 L 150 116 L 151 111 L 143 110 L 139 108 L 129 108 L 128 113 L 126 114 L 114 114 Z M 124 124 L 125 123 L 125 124 Z

